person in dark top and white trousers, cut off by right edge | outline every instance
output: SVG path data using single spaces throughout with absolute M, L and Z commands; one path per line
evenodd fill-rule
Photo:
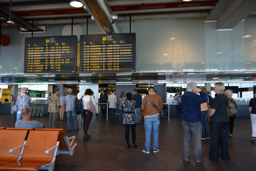
M 254 141 L 256 139 L 256 91 L 254 93 L 254 98 L 252 98 L 249 102 L 249 111 L 252 122 L 252 138 L 250 141 Z

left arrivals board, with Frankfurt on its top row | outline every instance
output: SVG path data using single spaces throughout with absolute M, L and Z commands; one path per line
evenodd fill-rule
M 24 73 L 76 72 L 77 36 L 25 38 Z

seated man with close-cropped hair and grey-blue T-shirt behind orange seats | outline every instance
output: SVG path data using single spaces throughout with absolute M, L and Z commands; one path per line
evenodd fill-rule
M 16 121 L 15 128 L 44 128 L 44 124 L 38 121 L 30 121 L 31 112 L 28 107 L 21 109 L 22 119 Z

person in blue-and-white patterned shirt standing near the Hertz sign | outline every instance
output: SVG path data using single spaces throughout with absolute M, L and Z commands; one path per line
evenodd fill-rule
M 26 95 L 28 89 L 26 87 L 22 87 L 21 89 L 21 95 L 18 96 L 18 99 L 17 99 L 17 107 L 18 107 L 18 110 L 17 110 L 17 120 L 20 120 L 21 119 L 21 109 L 23 109 L 24 107 L 28 107 L 30 106 L 30 97 Z

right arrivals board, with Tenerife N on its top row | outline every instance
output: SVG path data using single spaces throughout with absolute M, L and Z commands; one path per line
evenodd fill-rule
M 135 71 L 135 33 L 81 35 L 80 72 Z

